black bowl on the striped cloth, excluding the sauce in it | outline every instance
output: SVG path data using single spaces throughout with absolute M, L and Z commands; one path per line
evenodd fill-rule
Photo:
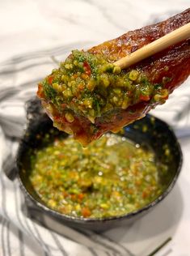
M 53 128 L 52 121 L 40 107 L 40 101 L 36 99 L 30 101 L 27 105 L 27 120 L 27 129 L 23 134 L 23 139 L 20 142 L 17 154 L 17 167 L 21 188 L 27 198 L 30 198 L 36 207 L 45 215 L 50 215 L 52 218 L 61 221 L 61 223 L 73 226 L 74 228 L 91 228 L 93 230 L 102 231 L 107 228 L 113 228 L 114 226 L 129 224 L 160 203 L 171 191 L 179 176 L 182 165 L 182 152 L 175 134 L 165 122 L 150 115 L 146 115 L 146 117 L 141 120 L 126 126 L 124 135 L 135 143 L 146 143 L 146 145 L 154 150 L 157 159 L 169 166 L 168 175 L 164 177 L 163 180 L 163 182 L 167 184 L 167 189 L 163 191 L 163 194 L 156 198 L 154 202 L 140 210 L 133 211 L 123 216 L 108 217 L 98 220 L 61 214 L 57 211 L 53 211 L 40 200 L 28 179 L 31 169 L 28 159 L 29 154 L 36 147 L 40 147 L 41 139 L 39 138 L 43 138 L 43 134 L 49 132 L 51 129 L 57 129 Z M 56 133 L 60 133 L 65 137 L 67 136 L 58 130 Z M 40 134 L 40 136 L 36 136 L 37 134 Z M 167 158 L 164 154 L 165 149 L 163 145 L 166 144 L 171 151 L 170 158 Z

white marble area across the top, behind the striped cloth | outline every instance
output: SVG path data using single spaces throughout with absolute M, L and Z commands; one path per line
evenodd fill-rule
M 150 23 L 189 0 L 1 0 L 0 61 L 78 41 L 106 41 Z

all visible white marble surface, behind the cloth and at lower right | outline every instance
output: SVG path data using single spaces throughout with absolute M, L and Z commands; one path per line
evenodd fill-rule
M 106 41 L 189 5 L 189 0 L 1 0 L 0 62 L 70 43 Z M 180 143 L 183 170 L 165 202 L 129 230 L 120 228 L 107 233 L 138 256 L 146 255 L 149 245 L 158 245 L 168 236 L 173 237 L 168 255 L 190 255 L 190 138 Z

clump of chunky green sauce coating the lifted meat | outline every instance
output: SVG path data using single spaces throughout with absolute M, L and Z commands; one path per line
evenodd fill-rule
M 120 70 L 103 55 L 74 50 L 39 84 L 38 95 L 49 102 L 50 112 L 64 109 L 67 122 L 84 116 L 94 123 L 96 117 L 115 108 L 164 102 L 168 96 L 164 84 L 150 83 L 141 70 Z

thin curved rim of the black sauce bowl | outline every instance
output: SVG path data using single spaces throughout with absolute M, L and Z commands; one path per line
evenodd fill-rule
M 154 117 L 154 116 L 151 115 L 151 114 L 146 114 L 146 117 L 144 117 L 144 118 L 150 119 L 152 117 Z M 27 196 L 27 198 L 30 198 L 32 200 L 32 202 L 36 205 L 36 207 L 39 207 L 46 214 L 53 215 L 54 217 L 58 217 L 59 219 L 64 220 L 64 221 L 70 221 L 70 222 L 78 223 L 78 224 L 87 224 L 87 223 L 93 224 L 93 223 L 96 223 L 96 222 L 105 223 L 105 222 L 112 222 L 114 220 L 130 219 L 130 218 L 133 218 L 133 216 L 140 215 L 141 213 L 143 213 L 145 211 L 148 211 L 150 208 L 152 208 L 155 205 L 157 205 L 158 203 L 162 202 L 163 199 L 167 197 L 167 194 L 169 194 L 171 192 L 171 190 L 175 186 L 175 183 L 176 183 L 176 181 L 179 177 L 179 173 L 181 171 L 182 164 L 183 164 L 183 153 L 182 153 L 182 150 L 181 150 L 181 147 L 180 147 L 180 144 L 179 144 L 179 140 L 175 136 L 174 130 L 171 128 L 171 126 L 169 126 L 167 124 L 167 122 L 164 122 L 163 120 L 159 119 L 158 117 L 154 117 L 154 119 L 155 119 L 156 122 L 160 122 L 160 123 L 162 123 L 163 126 L 166 126 L 167 130 L 169 130 L 169 132 L 171 133 L 171 135 L 175 139 L 176 147 L 178 148 L 178 151 L 179 151 L 179 164 L 178 164 L 177 170 L 175 172 L 175 175 L 172 178 L 171 183 L 169 184 L 169 186 L 167 186 L 166 190 L 164 190 L 163 193 L 158 196 L 158 198 L 155 198 L 154 201 L 148 203 L 146 206 L 144 206 L 140 209 L 137 209 L 136 211 L 129 212 L 125 215 L 116 215 L 116 216 L 112 216 L 112 217 L 103 217 L 103 218 L 84 218 L 84 217 L 78 217 L 78 216 L 72 216 L 72 215 L 65 215 L 63 213 L 60 213 L 58 211 L 55 211 L 55 210 L 47 207 L 45 204 L 40 203 L 39 201 L 37 201 L 32 196 L 32 194 L 30 194 L 28 192 L 28 190 L 26 189 L 26 186 L 24 186 L 24 184 L 23 184 L 22 178 L 20 177 L 20 169 L 19 169 L 19 155 L 20 154 L 19 154 L 19 152 L 21 150 L 22 143 L 23 143 L 22 139 L 19 143 L 19 148 L 18 148 L 17 156 L 16 156 L 16 165 L 17 165 L 17 169 L 18 169 L 17 174 L 18 174 L 19 185 L 21 187 L 21 190 L 23 190 L 23 193 Z M 25 130 L 23 134 L 25 134 L 26 132 L 27 132 L 27 130 Z

